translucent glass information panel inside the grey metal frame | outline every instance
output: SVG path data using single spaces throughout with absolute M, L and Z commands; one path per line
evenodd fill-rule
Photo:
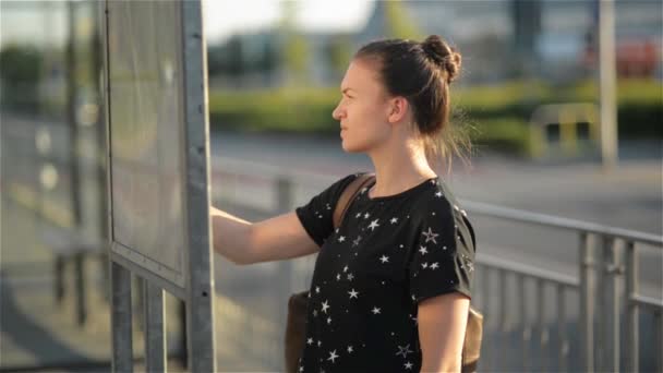
M 113 252 L 183 288 L 181 5 L 109 1 Z

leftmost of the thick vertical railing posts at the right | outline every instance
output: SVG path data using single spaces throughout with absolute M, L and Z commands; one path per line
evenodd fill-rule
M 583 371 L 594 371 L 594 253 L 589 233 L 580 232 L 580 326 Z

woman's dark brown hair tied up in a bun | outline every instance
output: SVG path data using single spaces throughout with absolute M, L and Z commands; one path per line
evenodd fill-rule
M 449 85 L 460 74 L 461 57 L 437 35 L 422 43 L 383 39 L 366 44 L 355 59 L 377 62 L 379 80 L 393 96 L 405 97 L 424 141 L 429 161 L 442 157 L 450 171 L 453 156 L 468 160 L 471 151 L 467 133 L 449 124 Z

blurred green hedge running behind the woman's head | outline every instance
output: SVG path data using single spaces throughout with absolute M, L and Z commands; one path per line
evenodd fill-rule
M 550 86 L 513 82 L 498 86 L 458 87 L 453 106 L 457 121 L 471 125 L 473 141 L 511 153 L 528 151 L 527 122 L 542 104 L 595 100 L 595 84 Z M 337 88 L 288 88 L 254 92 L 212 92 L 214 128 L 237 131 L 337 134 L 332 118 Z M 663 139 L 663 85 L 655 81 L 620 81 L 617 91 L 619 136 Z

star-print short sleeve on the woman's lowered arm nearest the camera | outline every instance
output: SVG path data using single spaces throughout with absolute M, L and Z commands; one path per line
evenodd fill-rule
M 453 291 L 472 297 L 474 233 L 465 212 L 455 207 L 436 196 L 421 209 L 408 262 L 410 296 L 417 303 Z

